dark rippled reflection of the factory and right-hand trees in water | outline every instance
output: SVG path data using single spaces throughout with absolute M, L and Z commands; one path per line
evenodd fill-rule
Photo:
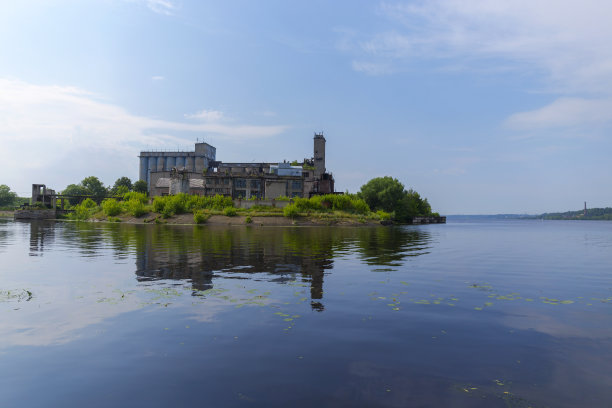
M 215 277 L 245 279 L 264 274 L 278 284 L 308 283 L 313 310 L 324 310 L 326 273 L 340 254 L 364 263 L 398 265 L 427 253 L 429 233 L 404 228 L 223 228 L 155 226 L 138 229 L 139 281 L 189 280 L 196 291 Z M 261 279 L 258 275 L 257 279 Z

